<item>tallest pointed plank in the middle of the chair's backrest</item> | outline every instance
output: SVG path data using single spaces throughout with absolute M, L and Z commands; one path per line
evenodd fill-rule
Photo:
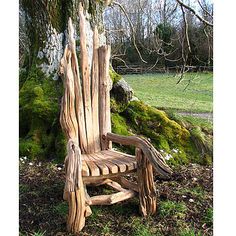
M 84 115 L 85 127 L 87 137 L 87 153 L 94 152 L 94 138 L 93 138 L 93 123 L 91 112 L 91 89 L 90 89 L 90 69 L 88 63 L 88 52 L 86 48 L 86 32 L 85 32 L 85 16 L 83 7 L 79 5 L 79 18 L 80 18 L 80 67 L 82 72 L 82 88 L 84 99 Z

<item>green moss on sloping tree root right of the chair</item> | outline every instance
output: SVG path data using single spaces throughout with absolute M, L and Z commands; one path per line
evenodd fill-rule
M 141 101 L 132 101 L 122 115 L 135 133 L 150 138 L 157 149 L 172 154 L 170 163 L 185 164 L 197 154 L 190 132 L 170 120 L 165 112 Z M 180 152 L 171 153 L 172 149 L 178 149 Z

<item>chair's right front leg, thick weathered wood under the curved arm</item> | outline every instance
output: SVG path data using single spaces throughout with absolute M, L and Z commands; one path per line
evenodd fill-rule
M 151 163 L 141 149 L 136 148 L 137 175 L 139 188 L 139 210 L 143 216 L 156 213 L 156 189 Z

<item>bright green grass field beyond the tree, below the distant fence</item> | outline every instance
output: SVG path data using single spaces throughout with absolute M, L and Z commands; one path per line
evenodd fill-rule
M 134 95 L 151 106 L 188 112 L 212 112 L 213 73 L 124 75 Z

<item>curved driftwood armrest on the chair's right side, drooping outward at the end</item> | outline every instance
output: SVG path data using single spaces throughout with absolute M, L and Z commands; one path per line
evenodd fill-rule
M 133 145 L 140 148 L 158 174 L 162 177 L 170 177 L 172 174 L 171 168 L 166 164 L 162 155 L 146 139 L 138 136 L 123 136 L 113 133 L 103 135 L 103 139 L 123 145 Z

